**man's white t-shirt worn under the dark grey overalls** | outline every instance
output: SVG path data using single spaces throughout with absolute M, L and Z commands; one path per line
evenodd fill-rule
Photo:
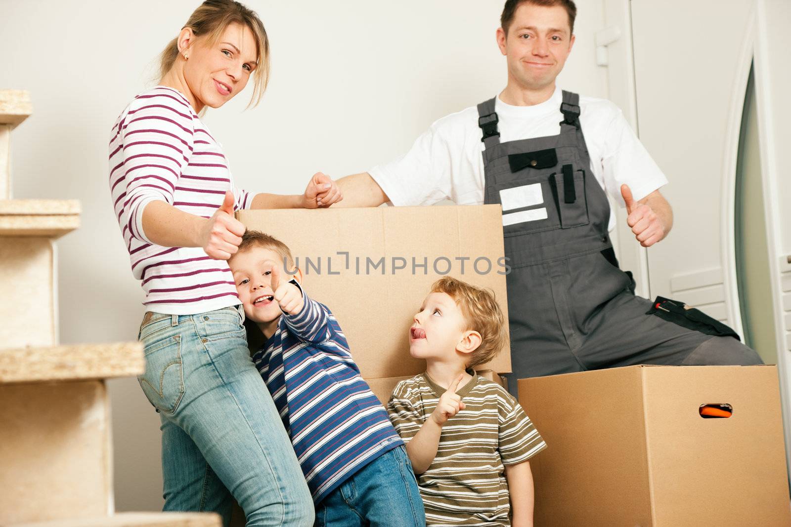
M 498 97 L 500 141 L 517 141 L 560 134 L 562 90 L 533 106 L 512 106 Z M 580 123 L 596 181 L 624 206 L 626 183 L 641 200 L 668 183 L 619 107 L 608 100 L 580 96 Z M 482 131 L 478 108 L 468 107 L 434 122 L 409 152 L 369 170 L 393 205 L 433 205 L 449 199 L 456 205 L 483 204 Z M 615 228 L 610 213 L 609 229 Z

